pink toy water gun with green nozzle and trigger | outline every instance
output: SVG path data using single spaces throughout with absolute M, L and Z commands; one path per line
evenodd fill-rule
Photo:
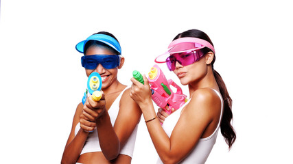
M 132 75 L 134 79 L 143 83 L 143 77 L 140 72 L 134 70 Z M 148 81 L 152 92 L 152 100 L 168 114 L 171 114 L 172 108 L 177 110 L 187 102 L 187 96 L 183 94 L 182 89 L 171 79 L 167 80 L 162 70 L 156 64 L 148 73 Z M 174 86 L 177 91 L 173 92 L 170 89 L 170 85 Z M 169 111 L 165 109 L 166 106 L 169 107 Z

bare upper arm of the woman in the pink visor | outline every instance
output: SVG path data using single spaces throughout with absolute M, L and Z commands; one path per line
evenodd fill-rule
M 210 90 L 198 90 L 185 107 L 170 137 L 171 150 L 177 160 L 183 159 L 196 146 L 213 122 L 213 100 Z M 171 155 L 172 155 L 171 154 Z

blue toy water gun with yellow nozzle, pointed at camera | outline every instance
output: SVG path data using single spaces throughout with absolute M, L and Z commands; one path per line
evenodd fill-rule
M 91 95 L 91 98 L 95 101 L 99 101 L 102 98 L 102 92 L 99 92 L 102 88 L 102 78 L 97 72 L 92 72 L 89 75 L 89 79 L 87 81 L 86 92 L 84 92 L 84 96 L 82 97 L 82 104 L 86 102 L 86 98 L 88 94 Z

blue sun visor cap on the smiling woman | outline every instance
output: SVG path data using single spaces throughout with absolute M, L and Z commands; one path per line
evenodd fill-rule
M 99 42 L 103 42 L 104 44 L 107 44 L 108 46 L 112 47 L 113 49 L 115 49 L 115 51 L 121 54 L 121 47 L 119 42 L 115 40 L 115 38 L 112 38 L 105 34 L 94 34 L 92 36 L 89 36 L 89 38 L 86 38 L 86 40 L 76 44 L 75 49 L 80 53 L 84 53 L 84 45 L 89 40 L 97 40 Z

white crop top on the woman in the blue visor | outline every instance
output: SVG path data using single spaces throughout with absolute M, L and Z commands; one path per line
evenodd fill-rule
M 115 99 L 115 101 L 111 105 L 110 109 L 108 110 L 112 126 L 114 126 L 114 124 L 115 124 L 115 120 L 116 120 L 118 112 L 119 112 L 119 102 L 120 102 L 121 96 L 124 93 L 124 91 L 126 90 L 126 88 L 121 92 L 121 94 L 119 94 L 119 96 Z M 124 145 L 124 147 L 120 150 L 119 154 L 125 154 L 125 155 L 132 157 L 135 139 L 137 137 L 137 127 L 138 127 L 138 125 L 134 128 L 134 131 L 132 132 L 132 134 L 128 138 L 128 141 L 126 141 L 126 144 Z M 79 130 L 80 130 L 80 123 L 78 123 L 75 126 L 75 135 L 78 134 Z M 86 143 L 84 143 L 84 148 L 82 148 L 82 152 L 80 153 L 80 155 L 84 154 L 86 152 L 102 152 L 101 147 L 99 146 L 99 138 L 97 137 L 97 129 L 96 128 L 93 132 L 89 133 L 89 136 L 86 139 Z

